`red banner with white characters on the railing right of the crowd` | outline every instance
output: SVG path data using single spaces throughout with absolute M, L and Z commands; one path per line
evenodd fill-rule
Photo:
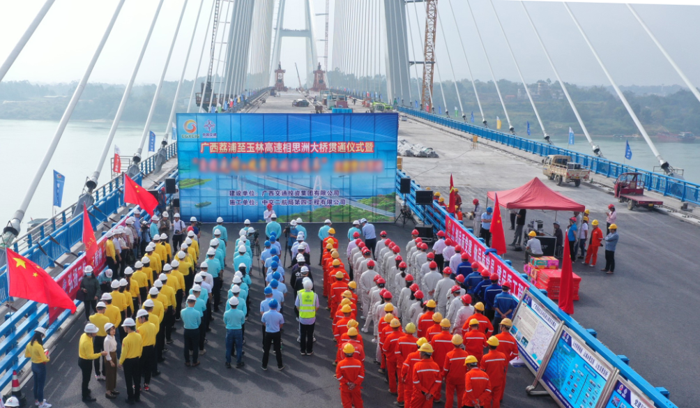
M 470 259 L 476 260 L 484 265 L 489 272 L 498 274 L 498 283 L 510 283 L 510 293 L 515 297 L 520 297 L 529 284 L 520 276 L 517 271 L 514 271 L 505 261 L 495 253 L 486 253 L 489 249 L 483 244 L 474 234 L 467 231 L 457 220 L 450 216 L 444 219 L 445 233 L 447 237 L 452 239 L 456 244 L 462 247 Z

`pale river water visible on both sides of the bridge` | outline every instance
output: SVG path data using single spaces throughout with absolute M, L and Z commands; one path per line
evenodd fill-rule
M 2 192 L 0 223 L 3 225 L 10 220 L 10 217 L 20 206 L 22 197 L 27 192 L 27 185 L 34 177 L 36 168 L 46 153 L 46 148 L 57 125 L 57 121 L 50 120 L 0 120 L 0 159 L 5 169 L 4 175 L 0 177 L 0 192 Z M 52 215 L 52 211 L 54 211 L 52 207 L 52 170 L 66 176 L 63 206 L 66 207 L 76 202 L 78 195 L 83 190 L 85 178 L 92 174 L 97 166 L 99 158 L 97 156 L 102 152 L 110 125 L 111 122 L 69 122 L 56 152 L 41 178 L 34 199 L 29 204 L 25 221 L 31 220 L 31 218 L 48 218 Z M 162 134 L 164 128 L 165 124 L 160 123 L 151 126 L 156 134 Z M 114 144 L 120 147 L 123 155 L 131 155 L 137 149 L 142 132 L 142 124 L 123 122 L 119 126 Z M 533 137 L 533 139 L 535 138 Z M 601 146 L 605 157 L 617 162 L 624 160 L 626 140 L 629 141 L 633 153 L 632 160 L 626 160 L 626 163 L 641 169 L 652 169 L 654 165 L 658 165 L 644 139 L 594 138 L 594 142 Z M 552 141 L 557 146 L 566 146 L 567 142 L 566 137 L 553 137 Z M 425 144 L 430 146 L 429 141 L 426 141 Z M 685 170 L 687 181 L 700 183 L 700 161 L 697 160 L 700 152 L 700 141 L 692 144 L 657 142 L 657 148 L 664 159 L 668 160 L 673 167 Z M 148 144 L 144 146 L 144 149 L 148 149 Z M 586 139 L 579 135 L 570 149 L 587 154 L 591 153 Z M 111 147 L 104 169 L 102 169 L 99 185 L 106 183 L 111 178 L 109 168 L 111 155 L 113 155 L 113 147 Z M 26 231 L 26 224 L 22 225 L 22 231 Z

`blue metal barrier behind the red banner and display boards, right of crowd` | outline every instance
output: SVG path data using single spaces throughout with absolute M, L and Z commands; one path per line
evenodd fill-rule
M 488 130 L 488 129 L 486 129 Z M 448 216 L 451 216 L 454 218 L 454 216 L 450 215 L 447 213 L 447 209 L 444 207 L 440 206 L 437 204 L 437 202 L 433 202 L 433 205 L 429 206 L 419 206 L 416 205 L 416 195 L 415 192 L 416 190 L 424 190 L 421 188 L 421 185 L 416 183 L 415 181 L 411 181 L 411 192 L 410 194 L 405 194 L 402 195 L 399 193 L 399 186 L 400 186 L 400 180 L 401 178 L 408 177 L 407 174 L 405 174 L 401 170 L 396 171 L 396 194 L 402 197 L 402 199 L 405 201 L 406 205 L 409 206 L 411 211 L 413 211 L 416 216 L 418 216 L 421 221 L 424 224 L 429 224 L 433 226 L 433 232 L 437 232 L 439 230 L 445 230 L 445 219 Z M 469 233 L 471 233 L 471 229 L 467 229 Z M 499 258 L 498 255 L 496 255 L 495 251 L 490 250 L 486 244 L 484 244 L 483 239 L 479 239 L 479 241 L 482 242 L 482 246 L 484 247 L 485 252 L 493 252 L 490 254 L 490 256 Z M 505 262 L 510 269 L 515 274 L 520 274 L 515 268 L 510 265 L 510 262 Z M 529 285 L 529 284 L 528 284 Z M 629 360 L 624 360 L 621 357 L 624 356 L 617 356 L 615 353 L 610 351 L 605 345 L 603 345 L 601 342 L 594 337 L 592 332 L 595 332 L 595 330 L 587 330 L 583 328 L 577 321 L 575 321 L 571 316 L 568 314 L 564 313 L 559 309 L 559 306 L 552 302 L 552 300 L 547 297 L 547 293 L 544 290 L 540 290 L 538 288 L 535 288 L 533 285 L 529 285 L 528 289 L 530 290 L 530 293 L 532 293 L 533 297 L 540 301 L 542 304 L 549 309 L 549 311 L 552 312 L 552 314 L 556 315 L 557 318 L 561 319 L 568 328 L 573 330 L 578 336 L 580 336 L 588 346 L 591 347 L 591 349 L 594 349 L 596 353 L 600 354 L 602 358 L 605 358 L 605 360 L 608 361 L 613 367 L 617 368 L 622 374 L 622 376 L 629 381 L 631 381 L 634 385 L 636 385 L 638 388 L 640 388 L 643 393 L 645 393 L 649 398 L 654 400 L 654 403 L 657 405 L 657 407 L 668 407 L 668 408 L 675 408 L 676 406 L 668 400 L 668 395 L 664 395 L 659 391 L 659 389 L 654 388 L 651 384 L 649 384 L 643 377 L 641 377 L 637 372 L 631 369 L 629 367 Z M 597 335 L 597 333 L 596 333 Z M 665 389 L 665 388 L 664 388 Z

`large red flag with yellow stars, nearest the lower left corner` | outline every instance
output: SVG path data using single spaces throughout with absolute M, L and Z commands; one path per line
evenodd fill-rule
M 7 270 L 10 296 L 76 311 L 73 300 L 45 270 L 10 249 L 7 250 Z

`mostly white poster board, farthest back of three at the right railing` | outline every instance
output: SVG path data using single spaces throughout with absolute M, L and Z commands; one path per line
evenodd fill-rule
M 536 373 L 547 357 L 549 345 L 562 324 L 545 305 L 525 290 L 513 314 L 510 334 L 515 337 L 520 357 Z

